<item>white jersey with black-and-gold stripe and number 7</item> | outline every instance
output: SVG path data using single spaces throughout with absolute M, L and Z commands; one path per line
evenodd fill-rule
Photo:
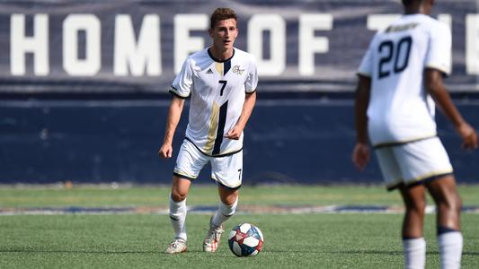
M 186 138 L 208 156 L 224 156 L 243 149 L 239 140 L 225 137 L 241 115 L 246 93 L 258 84 L 254 57 L 234 48 L 233 56 L 219 61 L 205 48 L 188 56 L 173 81 L 173 94 L 191 96 Z

